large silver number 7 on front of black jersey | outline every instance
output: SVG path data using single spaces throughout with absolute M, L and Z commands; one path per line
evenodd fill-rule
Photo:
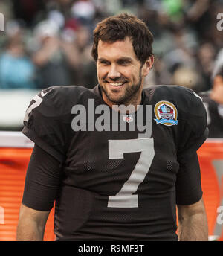
M 134 194 L 146 177 L 154 158 L 153 138 L 109 140 L 109 159 L 123 159 L 123 153 L 141 152 L 129 179 L 115 196 L 109 196 L 108 207 L 138 208 L 138 194 Z

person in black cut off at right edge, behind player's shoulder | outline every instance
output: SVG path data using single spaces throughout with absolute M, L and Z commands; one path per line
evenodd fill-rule
M 213 68 L 212 89 L 201 93 L 207 110 L 210 138 L 223 138 L 223 48 Z

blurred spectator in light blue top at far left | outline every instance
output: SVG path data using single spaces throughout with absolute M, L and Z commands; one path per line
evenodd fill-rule
M 0 89 L 36 87 L 35 67 L 25 48 L 24 33 L 17 22 L 9 22 L 0 56 Z

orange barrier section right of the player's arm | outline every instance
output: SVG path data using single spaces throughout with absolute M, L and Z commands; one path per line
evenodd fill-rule
M 223 140 L 207 139 L 198 150 L 198 159 L 209 235 L 222 241 L 223 216 L 219 210 L 223 208 Z

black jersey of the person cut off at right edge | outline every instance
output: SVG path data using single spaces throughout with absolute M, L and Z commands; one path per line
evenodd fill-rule
M 212 100 L 210 92 L 202 92 L 200 96 L 207 110 L 208 136 L 210 138 L 223 138 L 223 105 Z

